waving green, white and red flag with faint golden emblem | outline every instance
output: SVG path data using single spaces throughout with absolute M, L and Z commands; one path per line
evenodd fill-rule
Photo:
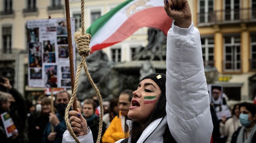
M 90 48 L 96 51 L 131 36 L 141 27 L 160 29 L 167 35 L 172 19 L 162 0 L 127 0 L 97 19 L 88 29 Z

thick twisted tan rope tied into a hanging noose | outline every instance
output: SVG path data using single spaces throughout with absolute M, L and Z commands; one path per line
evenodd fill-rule
M 69 124 L 69 119 L 68 119 L 69 115 L 68 115 L 68 113 L 69 113 L 69 109 L 70 109 L 71 105 L 74 102 L 75 96 L 77 94 L 78 79 L 79 79 L 79 74 L 80 74 L 82 66 L 84 67 L 87 78 L 88 78 L 89 82 L 91 83 L 92 87 L 94 88 L 94 90 L 96 92 L 96 96 L 99 99 L 100 121 L 99 121 L 99 133 L 98 133 L 98 138 L 97 138 L 96 143 L 100 142 L 101 134 L 102 134 L 102 123 L 103 123 L 103 120 L 102 120 L 102 117 L 103 117 L 102 97 L 99 93 L 99 89 L 97 88 L 97 86 L 95 85 L 95 83 L 92 80 L 91 75 L 89 74 L 89 71 L 87 69 L 87 64 L 85 62 L 85 58 L 87 56 L 89 56 L 89 54 L 91 52 L 91 49 L 89 48 L 91 38 L 92 38 L 91 35 L 90 34 L 85 34 L 85 31 L 84 31 L 84 0 L 81 0 L 81 28 L 79 29 L 79 31 L 77 31 L 74 34 L 74 39 L 75 39 L 75 42 L 77 42 L 78 54 L 80 56 L 82 56 L 82 61 L 80 62 L 79 66 L 77 68 L 73 94 L 72 94 L 72 97 L 70 98 L 69 104 L 67 105 L 67 108 L 65 110 L 65 122 L 66 122 L 66 125 L 67 125 L 67 130 L 69 131 L 70 135 L 75 139 L 75 141 L 77 143 L 81 143 L 81 142 L 77 139 L 71 125 Z

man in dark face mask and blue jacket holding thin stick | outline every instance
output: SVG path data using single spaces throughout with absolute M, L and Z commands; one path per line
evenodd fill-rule
M 55 106 L 57 113 L 49 113 L 49 123 L 44 129 L 42 143 L 60 143 L 62 135 L 67 126 L 64 120 L 65 107 L 69 103 L 70 96 L 67 91 L 61 91 L 56 94 Z M 51 132 L 51 125 L 54 126 L 54 132 Z

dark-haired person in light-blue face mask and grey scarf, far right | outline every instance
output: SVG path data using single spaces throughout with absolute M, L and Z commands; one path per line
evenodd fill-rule
M 231 143 L 255 143 L 256 142 L 256 105 L 252 103 L 239 104 L 239 121 L 242 127 L 238 128 Z

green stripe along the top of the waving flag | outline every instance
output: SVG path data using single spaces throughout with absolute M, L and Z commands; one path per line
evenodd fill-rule
M 120 9 L 122 9 L 124 6 L 126 6 L 127 4 L 129 4 L 131 1 L 133 0 L 127 0 L 124 1 L 122 4 L 119 4 L 117 7 L 113 8 L 111 11 L 109 11 L 107 14 L 103 15 L 102 17 L 100 17 L 99 19 L 95 20 L 94 23 L 92 23 L 92 25 L 86 30 L 87 33 L 89 33 L 92 37 L 93 35 L 105 24 L 107 23 L 107 21 L 112 18 L 113 15 L 115 15 L 115 13 L 117 13 L 117 11 L 119 11 Z

